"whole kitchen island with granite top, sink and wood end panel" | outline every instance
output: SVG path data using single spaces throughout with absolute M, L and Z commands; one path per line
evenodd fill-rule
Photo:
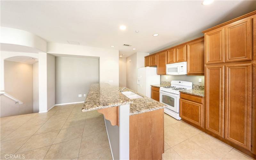
M 162 159 L 166 106 L 128 88 L 141 98 L 130 99 L 109 84 L 92 84 L 82 112 L 104 115 L 113 159 Z

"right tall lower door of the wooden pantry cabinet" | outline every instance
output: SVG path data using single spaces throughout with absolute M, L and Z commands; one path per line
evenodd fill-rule
M 225 67 L 225 139 L 251 150 L 252 64 Z

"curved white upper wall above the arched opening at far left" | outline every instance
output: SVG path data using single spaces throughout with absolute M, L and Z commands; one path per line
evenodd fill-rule
M 8 27 L 1 27 L 0 43 L 16 44 L 46 52 L 47 42 L 33 33 Z

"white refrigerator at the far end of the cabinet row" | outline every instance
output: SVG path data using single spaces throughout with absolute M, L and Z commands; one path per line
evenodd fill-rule
M 160 75 L 157 75 L 156 67 L 142 67 L 137 69 L 138 93 L 151 98 L 151 84 L 160 84 Z

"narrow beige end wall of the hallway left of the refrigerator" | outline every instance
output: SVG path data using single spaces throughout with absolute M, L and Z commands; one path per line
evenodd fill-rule
M 126 87 L 126 58 L 119 58 L 119 87 Z

